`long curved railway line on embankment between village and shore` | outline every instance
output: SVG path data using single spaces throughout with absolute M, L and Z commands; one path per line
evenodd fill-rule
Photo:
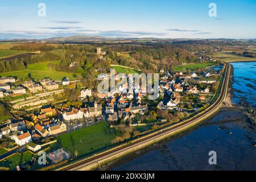
M 104 152 L 102 154 L 99 154 L 97 156 L 93 156 L 92 158 L 89 159 L 81 159 L 77 162 L 74 162 L 73 164 L 67 164 L 67 166 L 60 167 L 56 170 L 61 170 L 61 171 L 73 171 L 73 170 L 79 170 L 82 168 L 85 168 L 86 166 L 90 166 L 94 163 L 100 162 L 101 160 L 108 159 L 109 157 L 121 154 L 127 150 L 131 150 L 137 146 L 140 146 L 141 144 L 150 142 L 154 139 L 158 139 L 160 137 L 164 137 L 167 135 L 170 135 L 171 133 L 174 133 L 177 130 L 180 130 L 186 126 L 192 125 L 195 122 L 199 122 L 201 119 L 204 119 L 205 115 L 210 115 L 214 113 L 215 111 L 218 110 L 218 107 L 222 104 L 224 101 L 227 91 L 228 91 L 228 80 L 229 80 L 229 73 L 230 73 L 230 65 L 226 64 L 225 68 L 225 76 L 224 80 L 222 82 L 222 88 L 220 92 L 220 96 L 217 98 L 217 101 L 214 102 L 213 105 L 210 105 L 207 109 L 205 109 L 202 113 L 197 114 L 195 117 L 188 119 L 187 121 L 184 121 L 182 123 L 179 123 L 171 128 L 163 129 L 159 131 L 156 134 L 152 134 L 148 137 L 144 137 L 142 139 L 138 139 L 133 143 L 127 144 L 126 146 L 121 146 L 118 148 L 115 148 L 113 150 Z

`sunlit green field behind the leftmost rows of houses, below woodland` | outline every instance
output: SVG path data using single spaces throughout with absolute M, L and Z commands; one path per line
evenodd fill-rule
M 75 73 L 77 76 L 74 77 L 74 73 L 65 73 L 65 72 L 57 72 L 52 71 L 47 67 L 49 63 L 52 64 L 59 64 L 60 61 L 51 61 L 51 62 L 44 62 L 44 63 L 36 63 L 36 64 L 30 64 L 27 66 L 27 69 L 23 71 L 14 71 L 14 72 L 7 72 L 7 73 L 0 73 L 2 77 L 18 77 L 18 78 L 26 78 L 28 76 L 28 73 L 31 73 L 31 77 L 40 80 L 46 77 L 49 77 L 53 80 L 62 80 L 63 77 L 68 77 L 71 80 L 76 80 L 81 77 L 80 73 Z

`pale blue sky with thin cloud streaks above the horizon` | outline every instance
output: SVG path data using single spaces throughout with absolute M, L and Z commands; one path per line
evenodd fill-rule
M 209 4 L 216 3 L 217 17 Z M 45 3 L 46 16 L 38 16 Z M 255 0 L 0 0 L 0 39 L 89 35 L 255 38 Z

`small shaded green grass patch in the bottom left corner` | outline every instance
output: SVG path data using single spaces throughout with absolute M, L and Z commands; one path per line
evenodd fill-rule
M 15 154 L 0 162 L 0 167 L 9 167 L 10 170 L 15 170 L 16 166 L 21 166 L 22 164 L 28 162 L 32 159 L 32 154 L 30 152 L 24 152 L 22 155 Z

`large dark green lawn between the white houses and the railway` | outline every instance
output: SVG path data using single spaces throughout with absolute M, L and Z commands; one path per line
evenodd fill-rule
M 101 122 L 96 125 L 82 128 L 81 130 L 67 133 L 58 137 L 61 146 L 74 154 L 75 150 L 80 155 L 89 155 L 112 144 L 115 138 L 108 123 Z

